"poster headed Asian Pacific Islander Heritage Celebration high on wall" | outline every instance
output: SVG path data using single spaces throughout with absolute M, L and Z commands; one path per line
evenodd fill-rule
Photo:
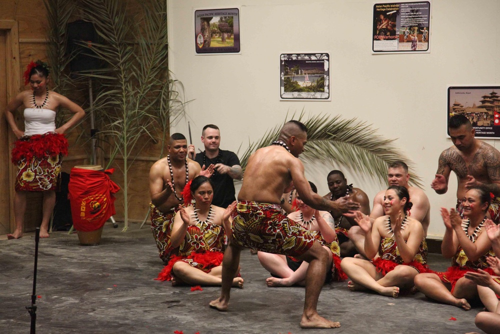
M 373 5 L 371 53 L 430 52 L 430 2 Z

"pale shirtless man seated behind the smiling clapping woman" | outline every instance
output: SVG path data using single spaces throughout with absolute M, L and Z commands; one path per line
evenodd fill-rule
M 422 223 L 424 236 L 427 236 L 427 229 L 430 223 L 430 203 L 427 195 L 422 191 L 422 189 L 417 187 L 411 187 L 408 185 L 409 174 L 408 166 L 402 161 L 394 161 L 389 164 L 387 168 L 387 183 L 389 186 L 403 186 L 408 189 L 410 201 L 413 203 L 411 207 L 411 218 L 418 220 Z M 383 211 L 383 196 L 385 190 L 378 192 L 373 198 L 373 208 L 369 215 L 371 223 L 375 221 L 376 218 L 383 216 L 385 213 Z M 408 214 L 408 215 L 409 215 Z M 364 236 L 361 233 L 359 226 L 352 226 L 349 229 L 349 239 L 352 240 L 356 246 L 359 254 L 365 256 L 364 254 Z

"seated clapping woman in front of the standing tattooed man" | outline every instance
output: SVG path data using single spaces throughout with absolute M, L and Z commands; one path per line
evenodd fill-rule
M 465 193 L 463 216 L 454 209 L 441 208 L 441 216 L 446 227 L 441 243 L 441 253 L 451 258 L 451 266 L 446 272 L 422 273 L 415 277 L 415 285 L 427 297 L 442 303 L 470 309 L 467 299 L 477 298 L 477 285 L 464 277 L 468 271 L 483 269 L 489 274 L 486 259 L 494 255 L 491 243 L 483 225 L 491 201 L 489 191 L 484 187 L 474 187 Z M 492 222 L 491 222 L 492 223 Z

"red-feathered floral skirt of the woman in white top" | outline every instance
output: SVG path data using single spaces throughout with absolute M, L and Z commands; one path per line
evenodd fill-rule
M 11 158 L 17 166 L 15 191 L 58 190 L 63 155 L 67 155 L 64 135 L 48 132 L 18 139 Z

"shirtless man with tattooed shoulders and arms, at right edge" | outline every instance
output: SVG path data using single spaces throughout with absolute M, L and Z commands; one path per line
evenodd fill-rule
M 475 130 L 463 115 L 450 117 L 449 136 L 453 146 L 439 156 L 435 179 L 430 186 L 438 194 L 448 191 L 451 171 L 458 181 L 456 209 L 461 214 L 465 192 L 477 185 L 484 185 L 496 197 L 489 206 L 488 215 L 496 224 L 500 222 L 500 152 L 493 146 L 474 137 Z M 488 217 L 489 218 L 489 217 Z

